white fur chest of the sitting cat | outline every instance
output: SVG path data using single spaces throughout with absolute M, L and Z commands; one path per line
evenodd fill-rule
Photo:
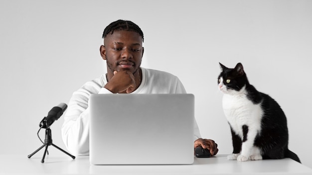
M 261 129 L 262 109 L 260 104 L 253 104 L 244 93 L 224 94 L 222 100 L 223 111 L 229 124 L 241 137 L 243 136 L 243 125 L 256 131 Z

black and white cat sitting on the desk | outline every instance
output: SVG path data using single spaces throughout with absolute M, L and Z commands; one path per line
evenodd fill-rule
M 243 65 L 229 69 L 220 63 L 218 77 L 223 95 L 223 110 L 230 124 L 233 154 L 227 159 L 237 161 L 291 158 L 298 156 L 288 149 L 286 116 L 269 95 L 250 85 Z

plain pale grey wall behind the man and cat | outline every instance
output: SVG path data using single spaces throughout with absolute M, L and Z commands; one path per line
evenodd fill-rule
M 1 0 L 0 154 L 32 153 L 47 112 L 106 72 L 101 37 L 117 19 L 143 30 L 142 67 L 178 76 L 195 95 L 201 135 L 218 143 L 219 154 L 232 152 L 219 62 L 241 62 L 250 83 L 282 106 L 289 148 L 312 168 L 312 0 Z M 65 149 L 63 121 L 51 130 Z

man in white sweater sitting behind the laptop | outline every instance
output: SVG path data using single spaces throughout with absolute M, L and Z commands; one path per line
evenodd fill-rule
M 62 138 L 67 149 L 74 155 L 89 154 L 88 100 L 91 94 L 186 93 L 177 77 L 140 67 L 144 36 L 135 23 L 125 20 L 112 22 L 105 28 L 103 38 L 104 45 L 100 47 L 100 53 L 103 60 L 106 60 L 107 74 L 87 82 L 75 91 L 64 117 Z M 218 152 L 213 140 L 200 138 L 197 123 L 194 122 L 194 148 L 198 146 L 209 149 L 211 155 Z

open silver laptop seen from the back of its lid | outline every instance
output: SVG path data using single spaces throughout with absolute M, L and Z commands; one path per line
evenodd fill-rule
M 92 165 L 193 163 L 193 94 L 92 94 L 89 108 Z

